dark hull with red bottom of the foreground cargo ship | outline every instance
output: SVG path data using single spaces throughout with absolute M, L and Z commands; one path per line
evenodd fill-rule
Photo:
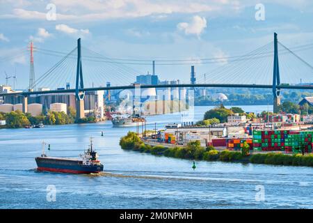
M 84 165 L 81 160 L 52 157 L 35 157 L 38 171 L 54 171 L 71 174 L 92 174 L 103 171 L 102 164 Z

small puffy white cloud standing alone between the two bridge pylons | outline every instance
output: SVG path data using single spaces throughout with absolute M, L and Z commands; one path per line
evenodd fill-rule
M 200 37 L 201 33 L 207 27 L 207 20 L 204 17 L 195 15 L 191 22 L 179 22 L 177 29 L 184 31 L 185 34 L 193 34 Z

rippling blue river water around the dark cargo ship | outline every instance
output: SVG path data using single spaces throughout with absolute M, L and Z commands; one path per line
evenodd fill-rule
M 209 108 L 150 116 L 147 129 L 200 120 Z M 313 168 L 203 161 L 193 170 L 190 160 L 123 151 L 118 142 L 129 130 L 136 127 L 113 128 L 110 121 L 0 130 L 0 208 L 313 208 Z M 91 136 L 104 174 L 35 171 L 42 140 L 51 156 L 77 157 Z

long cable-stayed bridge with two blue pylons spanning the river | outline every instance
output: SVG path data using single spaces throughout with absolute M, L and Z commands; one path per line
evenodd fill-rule
M 159 60 L 156 65 L 175 66 L 185 64 L 225 63 L 223 66 L 198 76 L 197 82 L 191 84 L 153 84 L 141 85 L 141 89 L 150 88 L 197 88 L 197 87 L 225 87 L 225 88 L 259 88 L 272 89 L 274 112 L 280 105 L 280 89 L 313 89 L 313 66 L 298 56 L 297 52 L 312 48 L 313 45 L 302 45 L 294 48 L 280 43 L 277 34 L 274 40 L 252 52 L 242 56 L 225 58 L 195 59 L 193 60 Z M 49 49 L 37 49 L 43 55 L 57 56 L 61 59 L 47 72 L 35 80 L 34 86 L 26 91 L 17 93 L 0 93 L 0 96 L 21 95 L 24 100 L 23 108 L 27 105 L 29 95 L 49 93 L 75 93 L 77 98 L 77 117 L 83 117 L 83 97 L 86 91 L 135 89 L 136 75 L 141 73 L 130 65 L 149 65 L 151 61 L 139 59 L 112 59 L 91 49 L 81 46 L 77 40 L 77 47 L 64 54 Z M 106 86 L 106 82 L 111 82 Z M 309 84 L 305 84 L 309 83 Z M 75 86 L 72 89 L 57 89 L 58 86 Z M 49 91 L 36 91 L 45 87 Z M 23 111 L 26 111 L 23 109 Z

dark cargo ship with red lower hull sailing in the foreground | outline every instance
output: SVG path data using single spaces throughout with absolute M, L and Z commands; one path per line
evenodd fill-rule
M 63 157 L 48 157 L 45 154 L 45 142 L 42 142 L 42 155 L 35 157 L 38 171 L 54 171 L 71 174 L 97 174 L 103 171 L 103 164 L 98 160 L 97 152 L 93 149 L 93 139 L 90 146 L 80 155 L 81 160 Z

